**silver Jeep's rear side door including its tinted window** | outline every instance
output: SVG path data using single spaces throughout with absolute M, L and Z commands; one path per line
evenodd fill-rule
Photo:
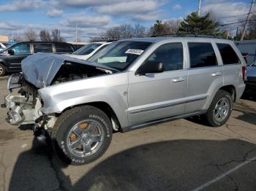
M 205 109 L 206 100 L 215 93 L 217 87 L 222 87 L 222 66 L 218 65 L 217 47 L 211 42 L 188 42 L 189 69 L 187 113 Z M 215 50 L 214 50 L 215 48 Z

